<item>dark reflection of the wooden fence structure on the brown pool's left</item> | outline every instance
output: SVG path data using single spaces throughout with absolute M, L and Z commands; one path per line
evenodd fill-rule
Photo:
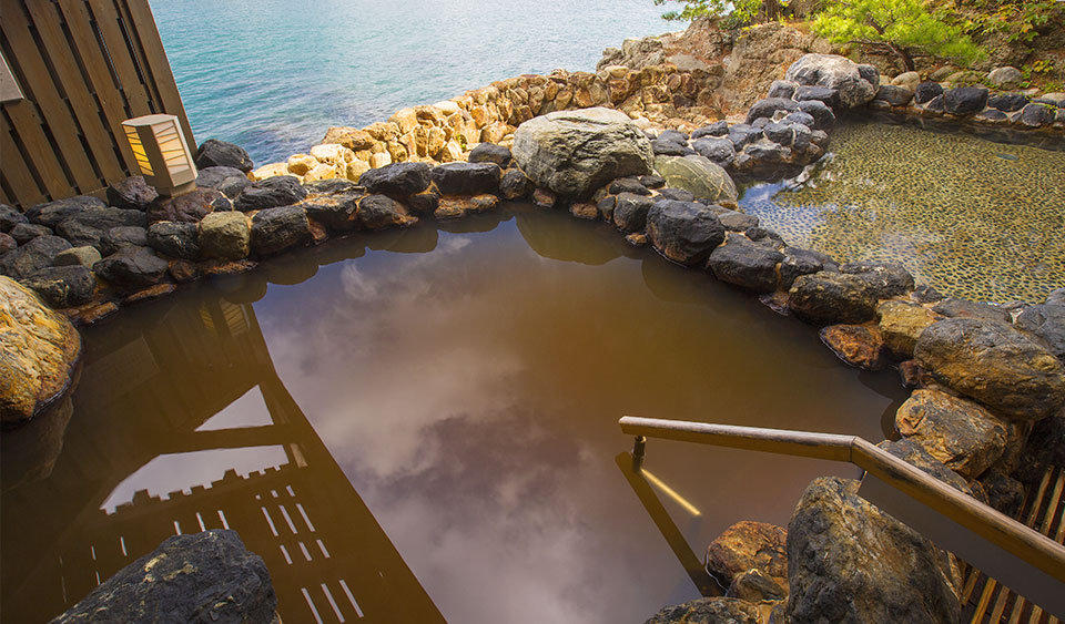
M 212 299 L 158 318 L 92 354 L 52 474 L 4 494 L 0 618 L 47 620 L 168 536 L 229 528 L 266 562 L 286 622 L 443 622 L 277 376 L 252 306 Z M 114 380 L 128 387 L 105 388 Z M 255 388 L 268 423 L 199 430 Z M 155 457 L 278 446 L 280 468 L 101 510 Z

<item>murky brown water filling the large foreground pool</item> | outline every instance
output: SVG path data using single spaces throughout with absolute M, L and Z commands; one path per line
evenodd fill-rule
M 652 440 L 670 495 L 625 470 L 619 417 L 880 440 L 904 392 L 610 229 L 513 206 L 333 241 L 88 331 L 65 409 L 3 436 L 3 621 L 221 526 L 286 624 L 642 622 L 697 597 L 724 528 L 855 472 Z

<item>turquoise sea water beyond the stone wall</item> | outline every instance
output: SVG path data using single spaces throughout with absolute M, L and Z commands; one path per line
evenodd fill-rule
M 199 142 L 256 166 L 523 73 L 595 71 L 607 47 L 679 30 L 651 0 L 152 0 Z

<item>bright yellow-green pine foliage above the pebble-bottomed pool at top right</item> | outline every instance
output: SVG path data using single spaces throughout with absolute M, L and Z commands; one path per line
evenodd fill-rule
M 965 64 L 984 54 L 962 28 L 933 16 L 921 0 L 830 0 L 813 30 L 833 43 L 886 48 L 906 71 L 914 69 L 915 50 Z

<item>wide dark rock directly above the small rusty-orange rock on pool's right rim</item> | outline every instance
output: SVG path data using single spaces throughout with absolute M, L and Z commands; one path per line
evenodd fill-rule
M 818 325 L 864 323 L 876 315 L 876 297 L 865 280 L 824 270 L 797 277 L 788 306 L 798 317 Z

